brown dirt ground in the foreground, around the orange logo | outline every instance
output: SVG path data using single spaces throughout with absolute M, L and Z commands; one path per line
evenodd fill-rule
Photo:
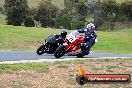
M 129 61 L 86 61 L 61 63 L 49 67 L 48 72 L 21 70 L 0 74 L 0 88 L 131 88 L 130 84 L 86 84 L 76 83 L 77 67 L 83 66 L 87 73 L 131 74 L 132 60 Z

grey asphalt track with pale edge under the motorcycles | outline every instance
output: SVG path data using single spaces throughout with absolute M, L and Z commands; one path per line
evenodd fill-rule
M 72 58 L 76 56 L 63 56 L 60 59 Z M 112 53 L 94 53 L 90 52 L 84 58 L 132 58 L 132 54 L 112 54 Z M 0 62 L 3 61 L 21 61 L 21 60 L 55 60 L 53 54 L 37 55 L 35 51 L 0 51 Z M 83 59 L 83 58 L 82 58 Z M 59 60 L 59 59 L 58 59 Z

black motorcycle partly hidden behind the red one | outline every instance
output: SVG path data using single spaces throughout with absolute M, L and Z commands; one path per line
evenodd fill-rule
M 53 54 L 61 44 L 63 44 L 63 39 L 60 39 L 59 35 L 50 34 L 45 39 L 45 42 L 37 49 L 37 54 Z

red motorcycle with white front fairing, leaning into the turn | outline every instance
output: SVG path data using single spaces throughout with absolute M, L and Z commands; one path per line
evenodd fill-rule
M 60 58 L 67 53 L 70 56 L 83 57 L 84 54 L 80 47 L 80 43 L 84 43 L 84 41 L 85 37 L 79 35 L 79 32 L 75 30 L 66 36 L 63 45 L 56 49 L 54 56 Z

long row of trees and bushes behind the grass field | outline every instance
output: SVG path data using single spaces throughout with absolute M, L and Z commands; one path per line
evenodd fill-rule
M 7 24 L 21 25 L 26 18 L 25 26 L 34 26 L 35 20 L 35 25 L 69 30 L 86 27 L 89 22 L 95 23 L 96 30 L 132 27 L 132 1 L 64 0 L 64 9 L 56 7 L 51 1 L 42 0 L 38 7 L 28 8 L 27 0 L 5 0 Z

